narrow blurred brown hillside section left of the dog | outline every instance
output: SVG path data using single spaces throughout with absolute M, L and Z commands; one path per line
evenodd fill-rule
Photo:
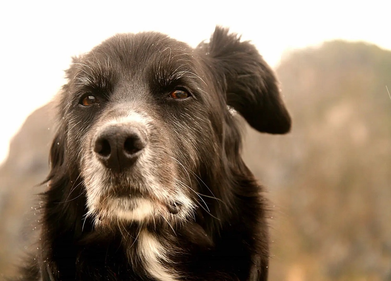
M 54 130 L 51 113 L 45 105 L 26 119 L 0 167 L 0 280 L 14 272 L 23 251 L 32 247 L 38 204 L 33 195 L 43 190 L 37 185 L 48 173 Z

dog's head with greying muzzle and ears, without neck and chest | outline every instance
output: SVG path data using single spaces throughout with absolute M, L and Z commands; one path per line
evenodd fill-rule
M 175 224 L 226 196 L 210 185 L 224 185 L 240 159 L 233 111 L 260 132 L 291 126 L 273 71 L 223 28 L 197 48 L 119 34 L 75 58 L 67 78 L 49 178 L 81 179 L 98 223 Z

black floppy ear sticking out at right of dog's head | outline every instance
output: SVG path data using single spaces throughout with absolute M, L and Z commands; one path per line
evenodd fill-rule
M 272 69 L 255 46 L 240 42 L 228 28 L 216 27 L 209 43 L 197 47 L 209 53 L 212 71 L 235 108 L 259 132 L 283 134 L 291 129 L 291 117 L 280 95 Z

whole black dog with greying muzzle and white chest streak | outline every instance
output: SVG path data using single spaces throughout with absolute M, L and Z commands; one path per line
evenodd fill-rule
M 117 34 L 66 78 L 38 250 L 19 280 L 267 280 L 267 200 L 237 114 L 271 134 L 291 117 L 255 46 L 222 27 L 196 48 Z

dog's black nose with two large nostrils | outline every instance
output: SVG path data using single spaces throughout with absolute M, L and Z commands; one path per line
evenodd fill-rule
M 97 134 L 94 151 L 106 167 L 123 171 L 136 162 L 145 145 L 145 138 L 137 128 L 112 125 Z

